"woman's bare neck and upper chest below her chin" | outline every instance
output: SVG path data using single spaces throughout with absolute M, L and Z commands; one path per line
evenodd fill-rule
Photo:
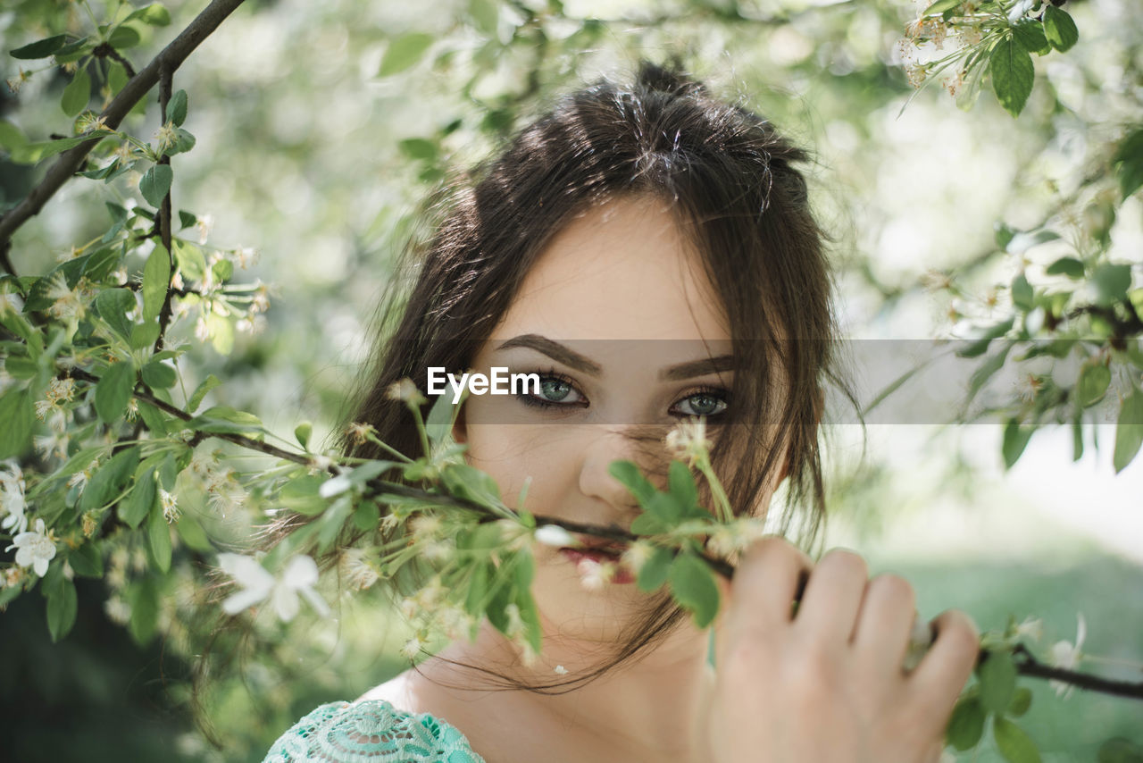
M 551 642 L 553 639 L 549 639 Z M 450 706 L 448 712 L 478 752 L 491 761 L 511 760 L 680 760 L 703 701 L 710 669 L 708 636 L 689 621 L 663 637 L 649 653 L 622 662 L 584 685 L 563 693 L 490 691 L 498 679 L 459 665 L 494 670 L 525 685 L 552 684 L 561 678 L 557 666 L 574 678 L 598 665 L 598 645 L 544 644 L 542 659 L 523 666 L 519 652 L 487 623 L 473 643 L 456 643 L 422 666 L 416 693 L 425 704 Z M 431 696 L 431 697 L 430 697 Z M 442 708 L 443 709 L 443 708 Z M 442 717 L 451 721 L 448 714 Z M 462 716 L 472 718 L 463 724 Z M 503 721 L 503 723 L 501 723 Z M 527 729 L 509 750 L 497 730 Z M 467 728 L 465 728 L 467 726 Z M 471 731 L 470 731 L 471 730 Z M 517 749 L 519 741 L 533 750 Z M 559 741 L 557 741 L 559 740 Z M 553 749 L 557 754 L 553 755 Z M 494 755 L 494 750 L 502 750 Z M 536 753 L 539 753 L 536 755 Z M 528 758 L 527 755 L 533 755 Z

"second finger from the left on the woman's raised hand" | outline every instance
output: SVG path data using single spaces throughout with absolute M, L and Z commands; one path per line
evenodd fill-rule
M 869 567 L 853 551 L 836 548 L 822 557 L 798 605 L 794 627 L 814 638 L 844 645 L 857 621 Z

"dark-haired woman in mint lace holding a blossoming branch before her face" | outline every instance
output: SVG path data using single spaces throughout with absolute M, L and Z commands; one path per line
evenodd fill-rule
M 834 324 L 823 233 L 792 166 L 805 159 L 653 64 L 632 86 L 565 97 L 447 205 L 355 420 L 416 454 L 393 382 L 424 390 L 431 366 L 534 372 L 538 391 L 473 396 L 454 430 L 502 495 L 530 478 L 528 506 L 545 515 L 628 526 L 638 508 L 608 464 L 661 474 L 663 432 L 703 416 L 735 510 L 766 515 L 786 480 L 778 526 L 800 518 L 813 537 Z M 765 538 L 722 582 L 711 670 L 706 634 L 630 585 L 621 549 L 584 540 L 537 550 L 541 659 L 486 623 L 357 702 L 318 708 L 266 760 L 940 757 L 977 653 L 964 613 L 934 621 L 906 673 L 909 583 L 870 580 L 849 551 L 813 565 Z

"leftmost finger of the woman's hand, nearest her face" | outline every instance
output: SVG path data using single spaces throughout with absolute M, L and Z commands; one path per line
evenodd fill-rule
M 789 625 L 799 578 L 812 567 L 804 551 L 781 538 L 752 543 L 734 573 L 727 630 L 757 635 Z

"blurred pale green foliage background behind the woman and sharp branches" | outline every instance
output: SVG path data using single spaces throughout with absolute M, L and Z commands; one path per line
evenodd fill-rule
M 123 51 L 136 67 L 206 3 L 165 5 L 171 25 Z M 90 7 L 104 10 L 99 0 Z M 837 236 L 842 320 L 855 340 L 957 335 L 966 318 L 1002 310 L 1006 285 L 1026 262 L 998 240 L 998 224 L 1024 231 L 1070 220 L 1137 272 L 1140 194 L 1120 202 L 1093 184 L 1110 172 L 1125 126 L 1143 121 L 1137 5 L 1069 2 L 1079 42 L 1037 61 L 1018 119 L 986 86 L 975 104 L 959 98 L 968 111 L 940 82 L 914 90 L 902 38 L 922 7 L 248 0 L 176 74 L 198 144 L 173 160 L 173 194 L 177 208 L 211 221 L 211 246 L 256 251 L 243 277 L 270 284 L 272 302 L 229 355 L 192 350 L 193 374 L 226 380 L 213 394 L 217 404 L 253 411 L 283 436 L 301 420 L 314 423 L 315 437 L 335 432 L 393 256 L 418 231 L 419 200 L 559 93 L 625 78 L 640 57 L 679 56 L 815 152 L 813 192 Z M 6 0 L 2 47 L 75 29 L 85 14 L 85 3 L 65 0 Z M 5 56 L 0 77 L 21 80 L 21 64 L 33 69 Z M 18 89 L 0 88 L 0 118 L 34 140 L 66 132 L 58 101 L 67 81 L 43 67 Z M 157 110 L 125 126 L 150 135 Z M 42 170 L 0 154 L 0 205 L 23 198 Z M 123 202 L 131 182 L 66 186 L 19 231 L 16 269 L 43 272 L 97 236 L 105 210 L 90 194 Z M 958 288 L 946 288 L 953 278 Z M 174 339 L 195 342 L 189 327 Z M 876 388 L 866 384 L 866 399 Z M 857 548 L 874 572 L 905 574 L 928 617 L 962 607 L 982 628 L 1002 627 L 1009 614 L 1040 617 L 1049 645 L 1074 638 L 1082 611 L 1086 651 L 1143 658 L 1143 469 L 1112 476 L 1110 429 L 1095 427 L 1104 447 L 1076 463 L 1071 435 L 1046 431 L 1005 474 L 997 427 L 943 427 L 935 414 L 926 423 L 832 428 L 829 545 Z M 240 539 L 251 518 L 210 522 Z M 121 564 L 129 578 L 133 561 Z M 331 588 L 335 620 L 303 612 L 215 676 L 205 717 L 224 740 L 219 752 L 192 723 L 190 674 L 205 623 L 190 595 L 169 590 L 157 633 L 133 637 L 120 625 L 114 583 L 82 585 L 95 590 L 80 591 L 77 626 L 61 644 L 48 642 L 38 597 L 18 598 L 0 617 L 7 760 L 258 761 L 319 702 L 352 699 L 405 666 L 397 654 L 405 626 L 384 596 L 351 599 Z M 1047 761 L 1095 760 L 1112 737 L 1143 744 L 1137 702 L 1036 691 L 1025 725 Z M 1000 758 L 984 749 L 972 760 Z

